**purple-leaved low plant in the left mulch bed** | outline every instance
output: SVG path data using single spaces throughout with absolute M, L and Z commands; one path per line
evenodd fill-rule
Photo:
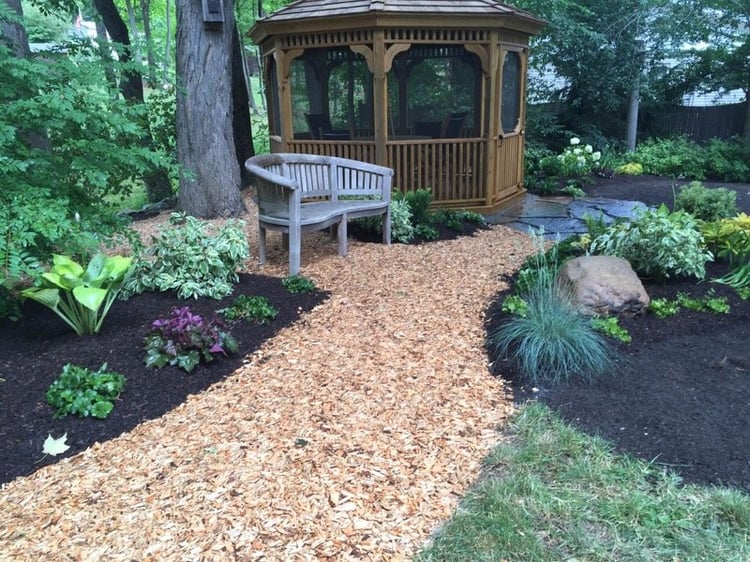
M 208 363 L 239 349 L 229 331 L 193 314 L 188 306 L 175 308 L 169 318 L 155 320 L 144 347 L 147 367 L 173 365 L 188 373 L 201 361 Z

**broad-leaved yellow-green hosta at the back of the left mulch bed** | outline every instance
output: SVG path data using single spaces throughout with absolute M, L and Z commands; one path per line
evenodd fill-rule
M 76 334 L 96 334 L 131 272 L 130 257 L 97 254 L 84 269 L 55 254 L 38 286 L 21 294 L 50 308 Z

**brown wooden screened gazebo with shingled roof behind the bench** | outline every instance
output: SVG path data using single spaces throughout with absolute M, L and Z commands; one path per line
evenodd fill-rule
M 272 152 L 395 170 L 491 212 L 522 194 L 526 61 L 542 22 L 494 0 L 298 0 L 259 19 Z

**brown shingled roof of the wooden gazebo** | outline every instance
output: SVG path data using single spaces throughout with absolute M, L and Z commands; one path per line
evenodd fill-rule
M 528 12 L 496 0 L 297 0 L 258 21 L 279 22 L 379 13 L 531 17 Z

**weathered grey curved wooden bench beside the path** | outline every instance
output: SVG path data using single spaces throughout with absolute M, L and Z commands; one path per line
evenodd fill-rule
M 349 219 L 383 216 L 383 243 L 391 243 L 393 170 L 357 160 L 275 153 L 248 158 L 257 189 L 258 253 L 266 262 L 266 231 L 288 235 L 289 274 L 300 268 L 303 232 L 338 225 L 338 253 L 346 255 Z

